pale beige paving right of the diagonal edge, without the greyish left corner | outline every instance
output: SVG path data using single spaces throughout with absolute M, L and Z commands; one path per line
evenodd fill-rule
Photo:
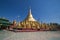
M 60 32 L 18 32 L 4 40 L 60 40 Z

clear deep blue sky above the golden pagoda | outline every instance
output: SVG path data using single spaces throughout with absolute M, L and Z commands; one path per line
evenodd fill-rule
M 22 21 L 31 6 L 33 17 L 45 23 L 60 23 L 60 0 L 0 0 L 0 17 Z

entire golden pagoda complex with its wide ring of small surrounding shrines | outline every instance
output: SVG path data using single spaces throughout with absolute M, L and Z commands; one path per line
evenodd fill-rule
M 40 23 L 37 20 L 34 19 L 34 17 L 32 16 L 32 12 L 31 9 L 29 9 L 28 15 L 25 18 L 25 20 L 18 22 L 18 24 L 16 25 L 16 21 L 13 21 L 13 28 L 16 29 L 22 29 L 22 30 L 42 30 L 42 31 L 46 31 L 46 30 L 53 30 L 55 29 L 55 27 L 52 25 L 48 25 L 46 23 Z

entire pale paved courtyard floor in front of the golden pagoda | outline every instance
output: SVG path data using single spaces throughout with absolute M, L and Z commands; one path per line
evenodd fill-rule
M 60 40 L 60 31 L 11 32 L 0 31 L 0 40 Z

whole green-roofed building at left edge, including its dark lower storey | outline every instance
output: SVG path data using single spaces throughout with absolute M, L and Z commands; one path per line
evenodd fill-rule
M 12 23 L 6 18 L 0 18 L 0 29 L 7 29 Z

